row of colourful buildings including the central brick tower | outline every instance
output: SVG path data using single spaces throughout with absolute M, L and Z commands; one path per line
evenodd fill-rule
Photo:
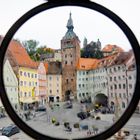
M 107 45 L 102 49 L 104 58 L 81 58 L 71 13 L 66 27 L 61 49 L 55 53 L 59 61 L 34 62 L 18 41 L 10 42 L 4 61 L 4 82 L 14 108 L 70 99 L 94 102 L 104 95 L 108 105 L 118 101 L 121 110 L 126 109 L 136 81 L 133 51 Z

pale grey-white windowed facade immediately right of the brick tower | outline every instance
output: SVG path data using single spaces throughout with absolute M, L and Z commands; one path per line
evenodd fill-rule
M 107 73 L 105 68 L 77 71 L 77 99 L 94 98 L 97 94 L 108 96 Z

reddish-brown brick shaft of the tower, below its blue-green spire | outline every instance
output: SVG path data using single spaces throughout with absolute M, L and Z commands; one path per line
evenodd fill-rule
M 80 45 L 77 38 L 61 41 L 62 49 L 62 96 L 66 100 L 66 93 L 76 97 L 76 65 L 80 58 Z

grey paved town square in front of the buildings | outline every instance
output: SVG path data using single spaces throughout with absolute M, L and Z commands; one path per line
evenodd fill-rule
M 109 126 L 113 124 L 112 118 L 113 114 L 96 114 L 100 116 L 100 120 L 95 118 L 88 117 L 84 120 L 81 120 L 77 117 L 77 113 L 81 111 L 81 104 L 73 103 L 73 108 L 65 109 L 63 104 L 60 103 L 59 106 L 53 107 L 53 109 L 47 107 L 46 111 L 36 112 L 35 117 L 32 117 L 30 120 L 25 121 L 29 126 L 35 129 L 38 132 L 41 132 L 45 135 L 52 137 L 59 137 L 63 139 L 73 139 L 73 138 L 86 138 L 88 136 L 93 136 L 96 133 L 100 133 L 106 130 Z M 52 119 L 55 122 L 59 122 L 59 125 L 52 123 Z M 71 131 L 67 131 L 64 127 L 64 123 L 69 122 Z M 137 137 L 140 139 L 140 115 L 135 114 L 130 119 L 130 121 L 125 125 L 124 129 L 130 131 L 130 136 L 126 137 L 126 140 L 132 140 L 134 134 L 137 134 Z M 9 117 L 0 119 L 0 127 L 5 127 L 13 122 Z M 74 124 L 78 123 L 79 128 L 74 128 Z M 83 129 L 82 126 L 88 126 L 87 129 Z M 93 127 L 96 128 L 93 131 Z M 89 130 L 91 133 L 88 133 Z M 55 133 L 54 133 L 55 132 Z M 24 132 L 20 131 L 10 137 L 11 140 L 32 140 Z M 113 137 L 111 138 L 113 139 Z

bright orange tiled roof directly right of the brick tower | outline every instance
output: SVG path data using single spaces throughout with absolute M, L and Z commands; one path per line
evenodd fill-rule
M 91 70 L 96 69 L 98 66 L 98 59 L 93 58 L 79 58 L 77 70 Z

